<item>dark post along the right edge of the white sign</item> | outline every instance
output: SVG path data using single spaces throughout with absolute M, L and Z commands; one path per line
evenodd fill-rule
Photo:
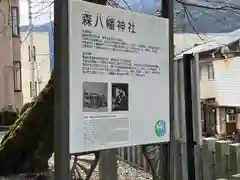
M 173 0 L 162 0 L 161 11 L 162 17 L 169 20 L 169 104 L 170 104 L 170 143 L 166 146 L 165 165 L 168 168 L 163 179 L 174 180 L 175 177 L 175 140 L 174 140 L 174 19 L 173 19 Z M 165 149 L 164 148 L 164 149 Z

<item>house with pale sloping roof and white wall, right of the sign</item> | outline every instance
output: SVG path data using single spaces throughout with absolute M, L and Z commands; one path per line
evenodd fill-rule
M 230 135 L 240 120 L 240 30 L 195 46 L 176 59 L 183 54 L 199 55 L 203 131 Z

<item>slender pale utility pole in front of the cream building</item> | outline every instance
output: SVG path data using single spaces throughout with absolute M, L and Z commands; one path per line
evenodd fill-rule
M 32 2 L 31 0 L 28 0 L 28 20 L 29 20 L 29 60 L 31 63 L 31 94 L 32 94 L 32 99 L 34 100 L 35 97 L 37 96 L 37 90 L 35 86 L 35 51 L 33 49 L 33 22 L 32 22 Z

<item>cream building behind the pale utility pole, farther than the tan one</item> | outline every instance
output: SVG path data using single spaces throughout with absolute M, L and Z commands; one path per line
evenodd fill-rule
M 22 56 L 22 91 L 23 102 L 32 100 L 31 94 L 31 62 L 29 61 L 30 41 L 28 32 L 21 32 L 21 39 L 24 41 L 21 47 Z M 37 94 L 45 87 L 50 78 L 50 52 L 49 52 L 49 34 L 47 32 L 33 32 L 33 49 L 35 54 L 35 88 Z

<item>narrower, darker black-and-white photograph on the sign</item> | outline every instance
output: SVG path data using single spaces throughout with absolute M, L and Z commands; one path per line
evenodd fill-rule
M 112 84 L 112 111 L 128 111 L 128 84 Z

